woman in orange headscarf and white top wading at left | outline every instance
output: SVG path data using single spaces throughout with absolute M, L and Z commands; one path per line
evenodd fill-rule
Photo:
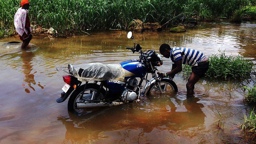
M 14 16 L 14 25 L 20 40 L 23 42 L 21 48 L 24 49 L 28 46 L 32 39 L 30 21 L 28 17 L 29 1 L 22 0 L 20 2 L 21 8 L 19 8 Z

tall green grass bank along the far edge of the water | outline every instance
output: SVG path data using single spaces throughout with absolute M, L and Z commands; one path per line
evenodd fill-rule
M 253 4 L 255 0 L 30 0 L 29 15 L 32 25 L 73 35 L 87 29 L 126 29 L 133 19 L 172 25 L 181 15 L 229 18 Z M 0 37 L 15 33 L 13 18 L 19 7 L 20 0 L 0 1 Z

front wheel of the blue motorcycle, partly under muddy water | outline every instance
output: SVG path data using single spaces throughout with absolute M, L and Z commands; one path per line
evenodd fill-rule
M 166 79 L 166 78 L 161 79 L 160 85 L 164 94 L 171 95 L 178 91 L 177 85 L 175 84 L 174 81 L 170 79 Z M 158 88 L 157 83 L 156 82 L 152 83 L 148 89 L 147 95 L 159 95 L 159 94 L 161 94 L 161 92 Z

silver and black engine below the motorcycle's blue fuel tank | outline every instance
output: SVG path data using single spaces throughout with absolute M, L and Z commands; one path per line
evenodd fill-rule
M 127 82 L 127 86 L 122 93 L 121 99 L 123 102 L 126 101 L 132 101 L 135 100 L 137 97 L 137 94 L 135 93 L 135 90 L 137 88 L 138 80 L 136 78 L 130 78 Z M 126 98 L 127 96 L 127 98 Z

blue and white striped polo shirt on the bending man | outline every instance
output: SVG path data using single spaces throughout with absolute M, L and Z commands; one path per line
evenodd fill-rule
M 206 56 L 198 50 L 185 47 L 172 47 L 170 58 L 173 62 L 182 59 L 182 64 L 196 66 Z

